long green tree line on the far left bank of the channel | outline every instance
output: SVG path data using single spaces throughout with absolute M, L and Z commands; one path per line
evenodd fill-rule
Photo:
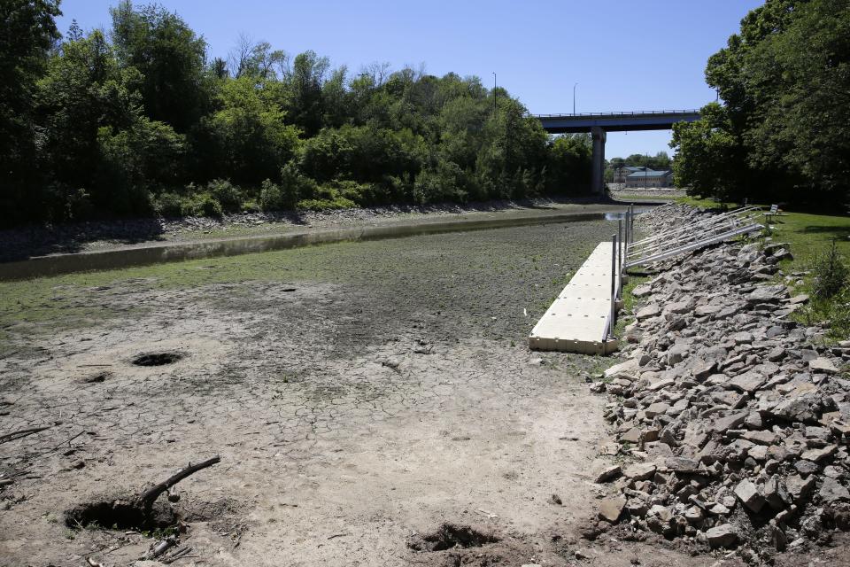
M 0 4 L 0 222 L 427 204 L 587 190 L 588 136 L 548 136 L 477 77 L 352 74 L 241 35 L 226 58 L 124 0 L 63 36 Z

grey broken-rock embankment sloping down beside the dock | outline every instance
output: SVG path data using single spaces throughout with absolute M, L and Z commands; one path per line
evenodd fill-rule
M 699 214 L 663 206 L 648 231 Z M 777 281 L 791 251 L 726 244 L 657 266 L 624 332 L 628 359 L 591 387 L 607 392 L 621 464 L 598 529 L 655 532 L 757 562 L 850 529 L 850 342 L 790 316 L 805 304 Z

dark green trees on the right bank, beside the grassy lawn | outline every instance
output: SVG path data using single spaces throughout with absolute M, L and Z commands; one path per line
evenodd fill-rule
M 767 0 L 708 59 L 722 104 L 673 128 L 676 184 L 834 206 L 850 180 L 850 0 Z

